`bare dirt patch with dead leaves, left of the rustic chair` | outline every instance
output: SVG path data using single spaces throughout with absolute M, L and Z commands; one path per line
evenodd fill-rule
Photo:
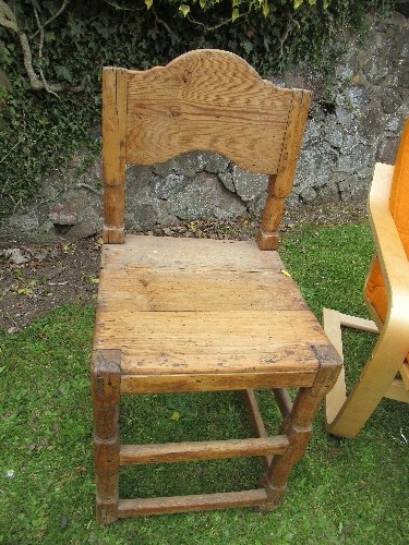
M 0 257 L 0 327 L 16 332 L 50 308 L 96 299 L 100 245 L 75 243 L 9 244 Z

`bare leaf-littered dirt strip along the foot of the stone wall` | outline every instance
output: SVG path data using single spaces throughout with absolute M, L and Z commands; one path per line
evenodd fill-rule
M 332 226 L 360 222 L 365 218 L 362 203 L 298 208 L 286 214 L 284 231 L 315 223 Z M 146 234 L 216 239 L 253 239 L 255 221 L 191 221 L 160 228 Z M 0 243 L 0 327 L 17 332 L 52 307 L 81 301 L 95 304 L 98 290 L 100 240 L 57 243 Z

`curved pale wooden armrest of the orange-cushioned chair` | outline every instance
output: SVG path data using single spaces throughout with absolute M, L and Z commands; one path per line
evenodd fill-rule
M 389 209 L 394 167 L 377 162 L 368 202 L 372 233 L 385 280 L 390 322 L 407 336 L 409 328 L 409 262 Z M 398 331 L 397 331 L 398 334 Z

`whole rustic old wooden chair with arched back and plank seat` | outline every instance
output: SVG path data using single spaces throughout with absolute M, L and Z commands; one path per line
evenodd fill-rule
M 276 251 L 310 94 L 275 87 L 239 57 L 183 55 L 145 72 L 104 69 L 105 227 L 92 384 L 97 519 L 278 506 L 303 455 L 340 358 Z M 258 246 L 252 241 L 124 237 L 125 165 L 212 150 L 268 173 Z M 298 389 L 292 403 L 286 387 Z M 253 388 L 282 413 L 269 437 Z M 121 445 L 120 396 L 243 390 L 257 437 Z M 258 487 L 224 494 L 119 499 L 119 468 L 264 457 Z M 200 493 L 201 491 L 199 491 Z

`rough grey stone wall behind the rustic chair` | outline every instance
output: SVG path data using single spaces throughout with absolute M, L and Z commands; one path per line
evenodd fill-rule
M 409 24 L 395 14 L 372 21 L 339 58 L 328 98 L 318 73 L 289 71 L 276 85 L 313 90 L 313 106 L 289 207 L 366 196 L 375 161 L 394 162 L 409 114 Z M 93 137 L 99 137 L 94 131 Z M 75 175 L 56 172 L 32 206 L 9 219 L 5 230 L 34 237 L 87 237 L 101 226 L 101 168 L 98 159 Z M 226 158 L 192 153 L 154 167 L 130 167 L 127 227 L 148 230 L 199 218 L 233 219 L 260 215 L 266 177 L 250 174 Z M 1 234 L 1 233 L 0 233 Z

